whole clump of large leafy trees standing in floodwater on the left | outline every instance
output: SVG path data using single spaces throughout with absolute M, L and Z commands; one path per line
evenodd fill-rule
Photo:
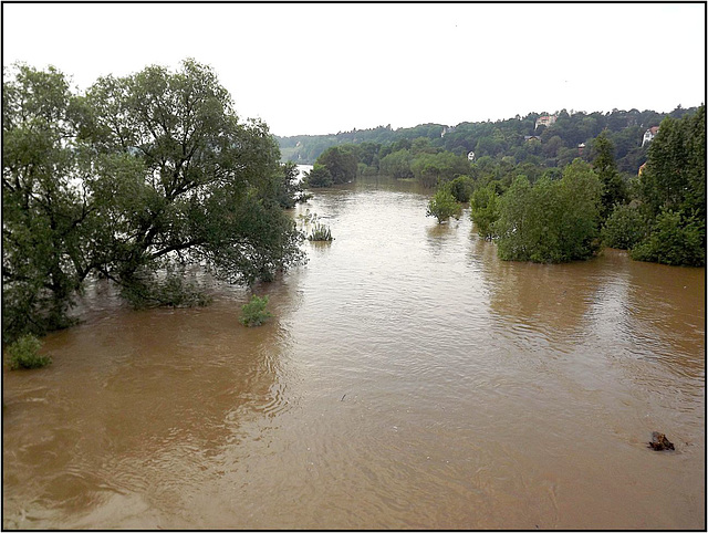
M 181 304 L 175 283 L 155 291 L 148 274 L 204 264 L 249 284 L 302 259 L 303 236 L 283 211 L 301 197 L 295 167 L 279 163 L 264 124 L 239 122 L 209 67 L 148 66 L 102 77 L 85 95 L 53 69 L 11 74 L 2 93 L 3 339 L 69 324 L 88 275 L 133 300 L 162 292 Z

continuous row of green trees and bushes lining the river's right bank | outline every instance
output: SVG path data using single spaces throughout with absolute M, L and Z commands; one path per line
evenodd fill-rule
M 662 121 L 636 175 L 620 171 L 611 137 L 602 130 L 584 158 L 562 167 L 511 156 L 472 161 L 429 137 L 343 144 L 317 157 L 308 184 L 329 187 L 372 173 L 417 179 L 436 188 L 429 215 L 445 222 L 469 203 L 479 236 L 497 241 L 507 260 L 586 259 L 604 243 L 636 260 L 705 265 L 705 105 Z

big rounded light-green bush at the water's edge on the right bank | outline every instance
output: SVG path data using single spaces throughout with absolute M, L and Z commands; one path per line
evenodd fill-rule
M 544 177 L 531 185 L 518 177 L 499 200 L 499 257 L 551 263 L 591 257 L 597 249 L 600 196 L 597 176 L 580 159 L 560 181 Z

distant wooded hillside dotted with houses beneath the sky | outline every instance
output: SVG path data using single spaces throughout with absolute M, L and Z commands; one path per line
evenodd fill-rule
M 551 115 L 529 113 L 521 117 L 497 122 L 464 122 L 457 126 L 444 124 L 420 124 L 410 128 L 393 129 L 391 125 L 371 129 L 353 129 L 336 135 L 298 135 L 275 137 L 285 161 L 313 164 L 317 157 L 332 146 L 355 144 L 364 145 L 365 151 L 375 154 L 371 166 L 378 168 L 381 159 L 392 151 L 410 149 L 415 139 L 425 138 L 429 146 L 439 151 L 451 151 L 467 156 L 475 153 L 476 158 L 489 156 L 507 159 L 509 163 L 530 163 L 542 167 L 564 167 L 574 158 L 589 158 L 592 140 L 605 132 L 615 147 L 615 160 L 620 171 L 636 175 L 646 163 L 647 145 L 643 146 L 645 132 L 658 126 L 670 116 L 681 118 L 695 113 L 696 107 L 683 108 L 680 105 L 670 113 L 655 111 L 618 111 L 610 113 L 568 112 L 565 109 Z M 542 117 L 550 116 L 554 122 L 549 125 Z M 541 118 L 541 121 L 539 121 Z M 583 146 L 585 145 L 585 146 Z

